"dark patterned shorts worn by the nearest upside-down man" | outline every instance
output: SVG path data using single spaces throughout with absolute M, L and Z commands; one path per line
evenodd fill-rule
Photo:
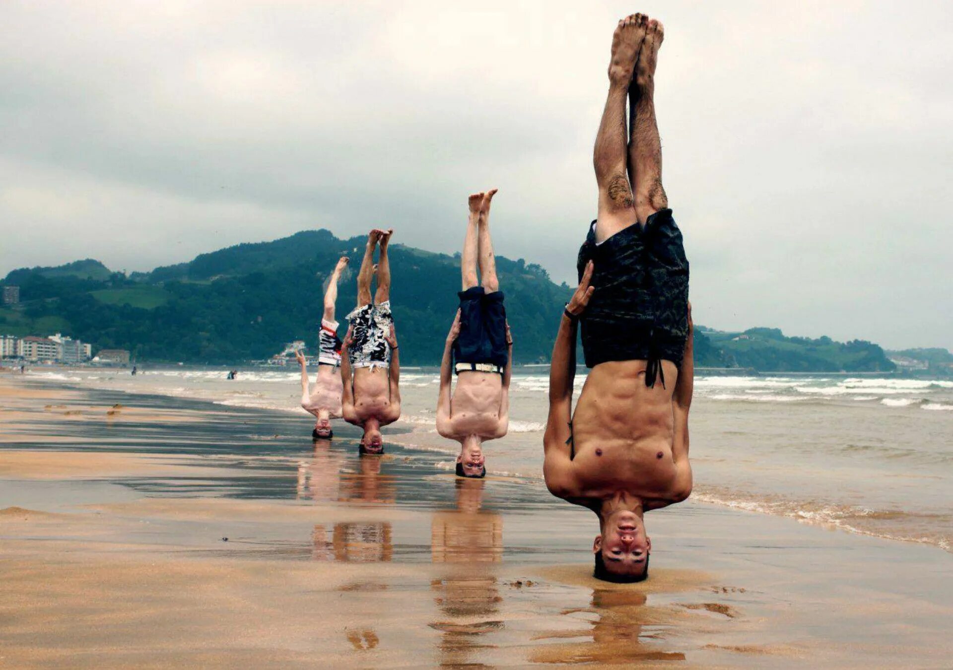
M 579 249 L 580 279 L 590 260 L 596 291 L 579 319 L 586 367 L 662 359 L 680 367 L 688 337 L 688 259 L 672 210 L 598 245 L 594 225 Z

